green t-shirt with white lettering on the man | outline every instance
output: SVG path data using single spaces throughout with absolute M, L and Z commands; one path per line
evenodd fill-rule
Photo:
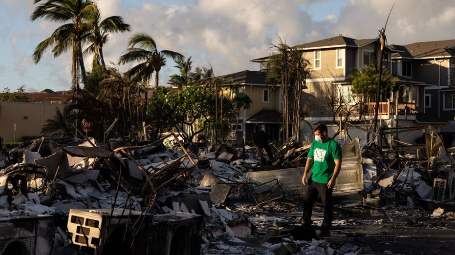
M 332 138 L 326 142 L 314 140 L 311 143 L 308 157 L 313 159 L 311 179 L 319 183 L 328 183 L 335 169 L 334 159 L 342 158 L 343 151 L 341 145 Z

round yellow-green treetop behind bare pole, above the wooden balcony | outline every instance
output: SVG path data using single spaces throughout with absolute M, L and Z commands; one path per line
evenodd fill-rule
M 352 93 L 359 98 L 364 98 L 364 101 L 374 101 L 376 91 L 379 84 L 379 73 L 376 71 L 374 65 L 353 69 L 349 75 L 349 80 L 352 84 Z M 381 92 L 395 86 L 398 78 L 392 76 L 386 67 L 382 71 Z

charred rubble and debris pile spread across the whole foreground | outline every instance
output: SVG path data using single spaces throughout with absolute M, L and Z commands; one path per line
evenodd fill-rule
M 361 147 L 358 138 L 343 147 L 342 171 L 334 190 L 340 201 L 333 220 L 335 236 L 347 236 L 347 230 L 359 225 L 381 225 L 409 216 L 410 210 L 454 219 L 455 174 L 450 149 L 436 135 L 416 148 L 413 154 L 410 150 L 415 147 L 411 146 L 386 150 L 368 143 Z M 275 152 L 263 146 L 198 147 L 197 143 L 183 144 L 173 134 L 134 146 L 122 139 L 99 145 L 93 139 L 43 137 L 25 142 L 1 158 L 0 220 L 41 215 L 58 218 L 50 244 L 54 254 L 79 246 L 107 254 L 124 244 L 128 246 L 125 254 L 169 254 L 172 250 L 275 255 L 384 252 L 351 240 L 315 240 L 302 233 L 301 177 L 308 150 L 309 145 L 295 142 L 286 142 Z M 353 218 L 352 212 L 362 210 L 380 211 L 379 215 L 387 217 Z M 87 212 L 102 215 L 100 221 L 106 218 L 108 227 L 99 227 L 106 237 L 92 239 L 93 233 L 88 234 L 89 228 L 77 216 Z M 163 219 L 169 215 L 177 218 Z M 130 227 L 147 225 L 147 216 L 155 220 L 151 227 L 172 222 L 167 226 L 175 227 L 167 227 L 167 231 L 174 232 L 168 235 L 179 236 L 180 245 L 173 238 L 159 239 L 159 231 L 143 232 L 140 227 L 137 231 L 123 229 L 123 238 L 113 241 L 118 239 L 111 237 L 115 232 L 108 230 L 109 224 L 118 225 L 125 216 Z M 112 221 L 114 218 L 119 219 Z M 321 226 L 322 213 L 315 212 L 313 220 Z M 184 231 L 178 224 L 186 224 Z M 75 232 L 83 238 L 78 240 Z M 168 244 L 151 244 L 157 240 Z M 110 246 L 106 245 L 109 241 Z M 93 253 L 91 248 L 82 251 Z

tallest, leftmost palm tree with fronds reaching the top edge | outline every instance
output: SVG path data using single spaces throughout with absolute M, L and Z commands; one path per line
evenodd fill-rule
M 90 20 L 86 18 L 93 13 L 96 5 L 92 0 L 35 0 L 34 4 L 42 1 L 43 3 L 39 4 L 30 16 L 31 21 L 44 18 L 58 23 L 70 22 L 58 27 L 50 37 L 38 44 L 33 53 L 33 60 L 38 63 L 49 48 L 52 48 L 54 57 L 59 57 L 71 49 L 72 86 L 78 88 L 79 68 L 83 78 L 86 75 L 82 57 L 82 43 L 87 40 L 90 27 Z

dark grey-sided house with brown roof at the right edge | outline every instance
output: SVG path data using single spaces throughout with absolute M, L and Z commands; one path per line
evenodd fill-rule
M 395 49 L 392 74 L 400 78 L 398 101 L 416 102 L 417 121 L 442 125 L 454 121 L 455 40 L 390 46 Z

